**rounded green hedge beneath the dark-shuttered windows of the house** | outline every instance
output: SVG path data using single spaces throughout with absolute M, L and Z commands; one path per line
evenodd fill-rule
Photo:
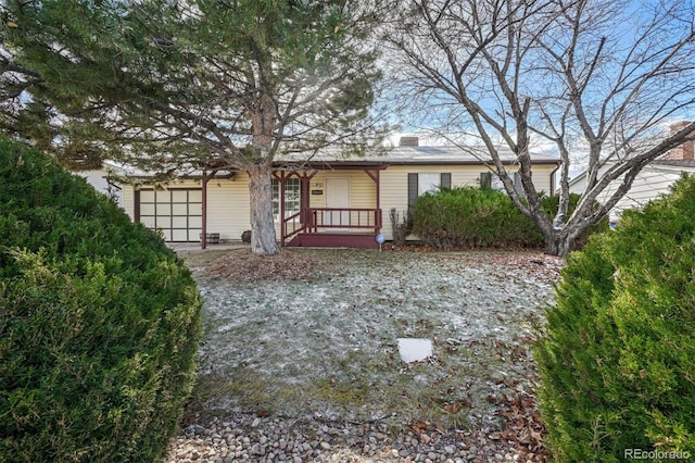
M 558 200 L 557 196 L 542 198 L 541 207 L 548 216 L 555 216 Z M 578 201 L 579 195 L 572 193 L 570 214 Z M 606 217 L 584 232 L 577 245 L 607 228 Z M 505 192 L 491 188 L 460 187 L 422 195 L 415 204 L 413 233 L 437 248 L 539 248 L 544 243 L 533 221 Z

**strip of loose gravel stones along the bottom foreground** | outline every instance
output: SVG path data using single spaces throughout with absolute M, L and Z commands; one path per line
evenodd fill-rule
M 408 429 L 383 423 L 330 423 L 238 413 L 193 424 L 177 437 L 167 463 L 180 462 L 542 462 L 498 433 Z

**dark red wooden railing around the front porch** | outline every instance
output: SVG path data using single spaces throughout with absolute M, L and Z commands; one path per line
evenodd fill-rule
M 381 226 L 380 209 L 311 208 L 285 218 L 282 242 L 300 233 L 379 233 Z

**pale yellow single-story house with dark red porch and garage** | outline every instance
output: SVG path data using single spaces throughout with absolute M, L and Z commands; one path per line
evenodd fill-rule
M 553 195 L 558 159 L 532 158 L 536 189 Z M 515 172 L 513 153 L 504 159 L 507 170 Z M 277 161 L 277 237 L 287 247 L 378 247 L 378 234 L 392 239 L 390 211 L 404 216 L 419 195 L 481 182 L 494 187 L 488 164 L 473 149 L 420 147 L 416 137 L 403 137 L 386 153 L 351 158 L 324 152 L 309 160 Z M 124 209 L 134 221 L 161 230 L 167 241 L 200 241 L 202 234 L 239 240 L 250 229 L 249 179 L 243 172 L 187 176 L 156 187 L 142 173 L 129 175 L 139 178 L 122 185 Z

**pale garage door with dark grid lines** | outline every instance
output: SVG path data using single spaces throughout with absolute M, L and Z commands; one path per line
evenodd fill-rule
M 165 241 L 200 241 L 203 229 L 200 189 L 141 189 L 138 197 L 138 221 L 160 230 Z

